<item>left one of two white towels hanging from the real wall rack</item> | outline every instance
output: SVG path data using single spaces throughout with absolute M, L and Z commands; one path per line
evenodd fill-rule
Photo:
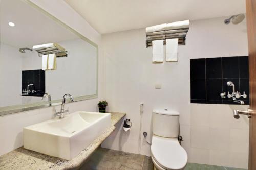
M 163 40 L 152 41 L 153 62 L 163 62 Z

